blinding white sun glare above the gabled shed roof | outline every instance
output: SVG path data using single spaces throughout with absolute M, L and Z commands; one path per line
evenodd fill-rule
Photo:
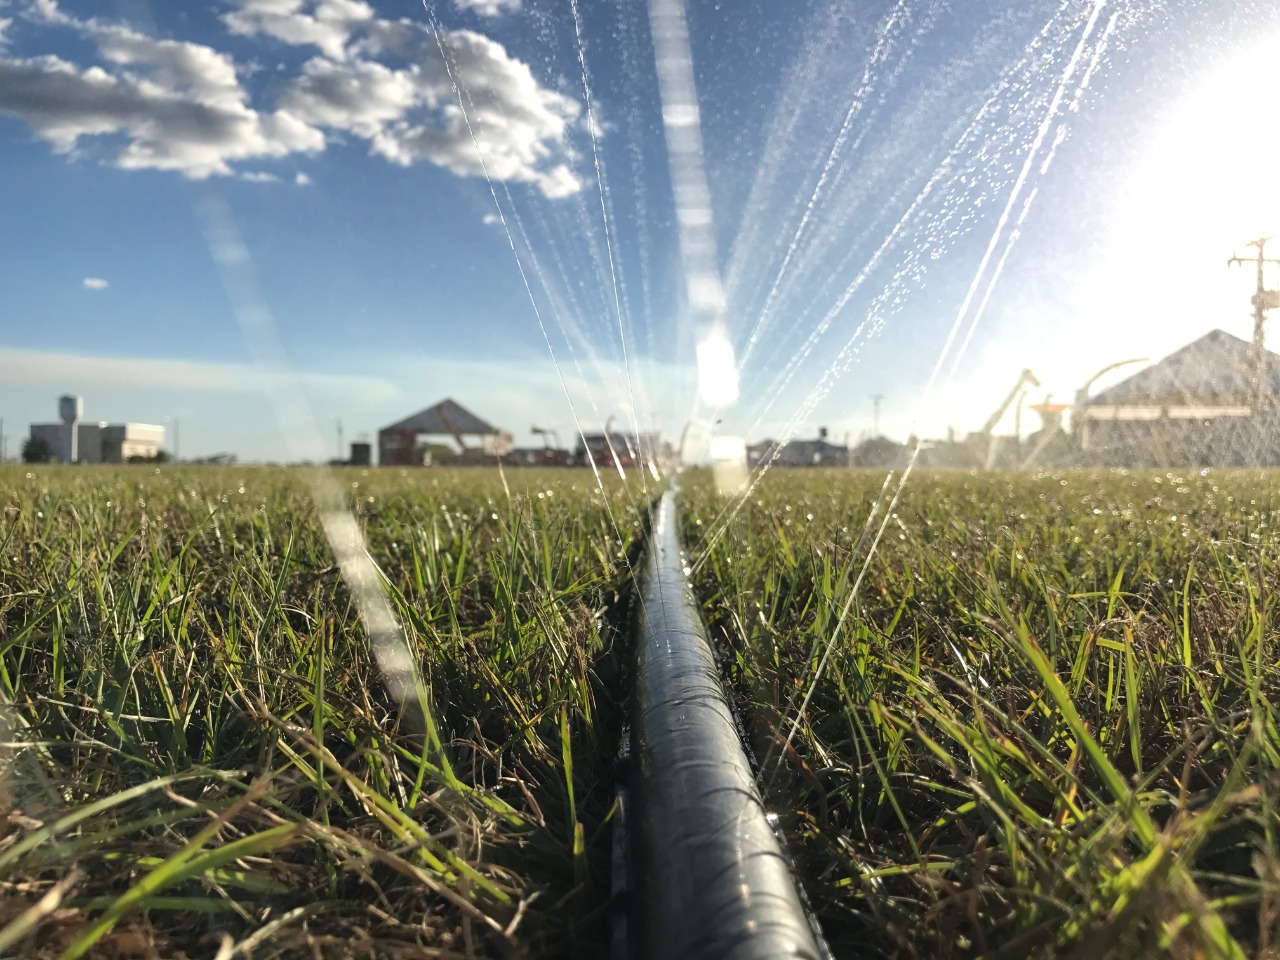
M 1108 338 L 1170 347 L 1222 328 L 1248 337 L 1245 244 L 1280 234 L 1280 35 L 1220 67 L 1176 102 L 1128 178 L 1092 300 Z M 1280 253 L 1280 238 L 1276 239 Z M 1155 340 L 1152 339 L 1155 337 Z

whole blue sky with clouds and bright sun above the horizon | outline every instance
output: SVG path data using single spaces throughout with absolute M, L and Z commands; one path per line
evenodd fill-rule
M 67 392 L 184 458 L 326 458 L 444 397 L 522 445 L 611 417 L 856 439 L 874 394 L 882 433 L 932 436 L 1024 367 L 1066 401 L 1249 335 L 1226 260 L 1280 225 L 1272 4 L 700 1 L 687 28 L 681 154 L 643 0 L 0 0 L 9 456 Z M 716 410 L 712 329 L 740 365 Z

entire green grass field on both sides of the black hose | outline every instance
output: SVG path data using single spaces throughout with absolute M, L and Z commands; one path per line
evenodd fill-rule
M 0 471 L 0 955 L 607 952 L 652 490 L 337 477 L 425 710 L 305 472 Z M 918 475 L 865 563 L 883 479 L 682 483 L 836 956 L 1277 955 L 1276 477 Z

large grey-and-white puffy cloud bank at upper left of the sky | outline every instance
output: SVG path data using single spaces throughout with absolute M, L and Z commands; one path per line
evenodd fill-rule
M 486 15 L 520 5 L 457 3 Z M 315 155 L 353 136 L 401 166 L 488 174 L 530 183 L 548 197 L 582 186 L 570 143 L 577 101 L 474 31 L 436 36 L 413 20 L 378 18 L 364 0 L 234 0 L 221 18 L 233 35 L 316 51 L 275 88 L 274 109 L 262 109 L 233 58 L 205 44 L 79 19 L 58 0 L 32 0 L 28 19 L 77 32 L 100 59 L 82 65 L 47 54 L 18 56 L 0 42 L 0 114 L 20 119 L 58 154 L 191 179 L 234 174 L 261 182 L 275 174 L 237 164 Z

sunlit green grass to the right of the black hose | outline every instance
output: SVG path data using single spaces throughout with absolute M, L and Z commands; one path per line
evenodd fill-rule
M 836 956 L 1276 956 L 1280 476 L 916 475 L 841 621 L 882 483 L 684 495 Z

